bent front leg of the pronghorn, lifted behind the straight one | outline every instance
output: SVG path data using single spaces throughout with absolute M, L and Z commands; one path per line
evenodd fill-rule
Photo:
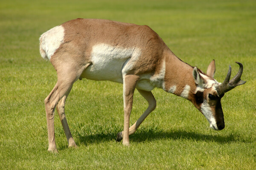
M 154 111 L 154 109 L 156 108 L 157 106 L 157 102 L 153 96 L 153 94 L 151 93 L 151 91 L 143 91 L 143 90 L 139 90 L 137 89 L 140 94 L 147 100 L 148 102 L 148 108 L 147 110 L 143 113 L 143 115 L 140 116 L 140 118 L 134 123 L 134 125 L 132 125 L 130 128 L 129 128 L 129 135 L 133 134 L 137 128 L 140 126 L 140 124 L 145 120 L 145 118 L 148 116 L 149 113 L 151 113 L 152 111 Z M 122 132 L 119 132 L 117 134 L 117 139 L 116 141 L 120 141 L 123 139 L 123 134 L 124 134 L 124 131 Z

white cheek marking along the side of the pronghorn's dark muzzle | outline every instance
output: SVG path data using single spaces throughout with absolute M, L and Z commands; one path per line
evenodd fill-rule
M 204 103 L 206 103 L 206 105 Z M 202 105 L 201 105 L 202 113 L 204 114 L 204 116 L 208 120 L 208 122 L 210 124 L 210 127 L 214 130 L 218 130 L 216 120 L 215 120 L 215 118 L 213 117 L 213 114 L 212 114 L 212 109 L 207 104 L 206 99 L 204 99 L 204 103 L 202 103 Z

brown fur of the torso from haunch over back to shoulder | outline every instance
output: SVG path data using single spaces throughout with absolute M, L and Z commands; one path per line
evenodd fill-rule
M 141 57 L 131 74 L 157 73 L 157 64 L 161 61 L 163 51 L 168 49 L 157 33 L 148 26 L 99 19 L 70 20 L 62 26 L 65 29 L 64 43 L 51 57 L 56 71 L 61 69 L 58 65 L 64 63 L 71 62 L 71 65 L 76 62 L 76 65 L 85 65 L 90 61 L 93 45 L 106 43 L 116 47 L 142 49 Z

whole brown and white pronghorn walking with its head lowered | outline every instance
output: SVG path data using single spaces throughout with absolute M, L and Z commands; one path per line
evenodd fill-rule
M 49 148 L 58 152 L 55 144 L 54 111 L 64 128 L 69 147 L 76 147 L 64 113 L 65 101 L 78 79 L 110 80 L 123 84 L 124 130 L 117 141 L 129 145 L 133 134 L 143 120 L 156 108 L 151 93 L 154 88 L 188 99 L 204 114 L 210 127 L 222 130 L 224 116 L 221 98 L 245 82 L 240 79 L 243 65 L 230 80 L 231 67 L 223 83 L 217 82 L 215 61 L 204 74 L 197 67 L 181 61 L 163 40 L 148 26 L 119 23 L 110 20 L 76 19 L 56 26 L 40 37 L 40 53 L 49 59 L 57 71 L 55 87 L 44 100 Z M 147 100 L 148 108 L 129 128 L 134 90 Z

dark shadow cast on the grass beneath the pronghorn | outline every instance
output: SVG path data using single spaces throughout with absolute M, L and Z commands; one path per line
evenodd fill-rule
M 117 133 L 98 133 L 90 134 L 85 136 L 79 136 L 80 143 L 82 144 L 95 144 L 101 142 L 108 142 L 116 140 Z M 170 132 L 163 132 L 159 130 L 138 130 L 133 135 L 130 136 L 131 142 L 145 142 L 145 141 L 155 141 L 161 139 L 172 139 L 172 140 L 194 140 L 194 141 L 206 141 L 206 142 L 218 142 L 218 143 L 229 143 L 229 142 L 246 142 L 244 139 L 239 139 L 239 137 L 231 133 L 229 135 L 211 135 L 202 134 L 195 132 L 187 132 L 183 130 L 174 130 Z

